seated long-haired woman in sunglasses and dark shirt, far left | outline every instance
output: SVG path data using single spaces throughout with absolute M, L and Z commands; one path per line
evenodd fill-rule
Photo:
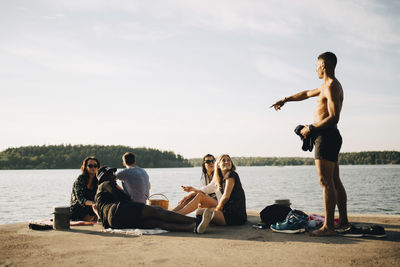
M 86 157 L 81 166 L 82 174 L 76 178 L 71 193 L 71 220 L 96 221 L 94 195 L 97 191 L 96 173 L 100 162 L 93 156 Z

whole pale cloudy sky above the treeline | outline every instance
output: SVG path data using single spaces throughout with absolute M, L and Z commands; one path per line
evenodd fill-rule
M 400 150 L 399 1 L 0 1 L 0 150 L 99 144 L 303 156 L 338 57 L 342 152 Z

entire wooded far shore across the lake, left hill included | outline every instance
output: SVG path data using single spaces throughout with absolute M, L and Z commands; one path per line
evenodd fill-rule
M 52 145 L 9 148 L 0 152 L 0 169 L 78 169 L 87 156 L 97 157 L 101 165 L 122 168 L 121 156 L 133 152 L 143 168 L 200 166 L 201 159 L 185 159 L 171 151 L 152 148 L 101 145 Z M 233 157 L 237 166 L 313 165 L 312 157 Z M 398 151 L 340 153 L 341 165 L 400 164 Z

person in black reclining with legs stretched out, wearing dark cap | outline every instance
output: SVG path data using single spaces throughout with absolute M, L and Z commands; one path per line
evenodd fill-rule
M 161 228 L 168 231 L 203 233 L 209 223 L 177 214 L 161 207 L 132 202 L 116 183 L 116 168 L 102 167 L 97 172 L 99 185 L 95 196 L 104 228 Z

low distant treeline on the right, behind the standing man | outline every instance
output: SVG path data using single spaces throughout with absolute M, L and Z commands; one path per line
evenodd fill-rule
M 313 158 L 301 157 L 233 157 L 237 166 L 288 166 L 288 165 L 314 165 Z M 189 159 L 193 166 L 200 166 L 201 159 Z M 398 151 L 366 151 L 340 153 L 340 165 L 374 165 L 374 164 L 400 164 Z

